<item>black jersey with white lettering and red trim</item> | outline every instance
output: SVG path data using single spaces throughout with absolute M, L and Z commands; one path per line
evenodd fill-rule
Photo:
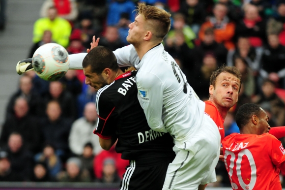
M 96 97 L 99 121 L 94 133 L 103 139 L 116 135 L 115 149 L 122 154 L 122 159 L 155 161 L 154 158 L 175 156 L 172 137 L 148 126 L 137 94 L 132 72 L 118 76 L 100 89 Z

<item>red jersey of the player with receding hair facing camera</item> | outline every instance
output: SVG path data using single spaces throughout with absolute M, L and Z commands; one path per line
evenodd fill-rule
M 225 129 L 224 129 L 224 119 L 216 106 L 210 101 L 207 100 L 205 101 L 206 106 L 205 106 L 205 113 L 208 114 L 212 120 L 216 123 L 216 125 L 219 128 L 220 134 L 221 134 L 221 142 L 225 138 Z

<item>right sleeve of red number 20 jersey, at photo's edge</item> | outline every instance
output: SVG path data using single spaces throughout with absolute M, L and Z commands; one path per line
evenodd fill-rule
M 285 172 L 285 149 L 282 143 L 273 135 L 268 135 L 268 150 L 274 165 Z

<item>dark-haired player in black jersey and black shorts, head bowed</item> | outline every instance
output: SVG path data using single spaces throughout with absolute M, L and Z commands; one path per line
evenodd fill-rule
M 94 131 L 100 145 L 130 160 L 120 190 L 161 190 L 169 163 L 175 157 L 169 133 L 153 131 L 147 125 L 138 100 L 135 72 L 123 73 L 114 53 L 106 47 L 93 48 L 83 61 L 85 83 L 99 90 L 99 116 Z

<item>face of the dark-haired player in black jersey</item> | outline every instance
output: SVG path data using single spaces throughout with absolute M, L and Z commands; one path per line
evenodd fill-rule
M 97 74 L 91 71 L 91 66 L 87 66 L 86 68 L 83 68 L 83 71 L 86 76 L 85 84 L 93 87 L 95 91 L 98 91 L 102 87 L 109 85 L 108 81 L 102 76 L 102 73 Z

